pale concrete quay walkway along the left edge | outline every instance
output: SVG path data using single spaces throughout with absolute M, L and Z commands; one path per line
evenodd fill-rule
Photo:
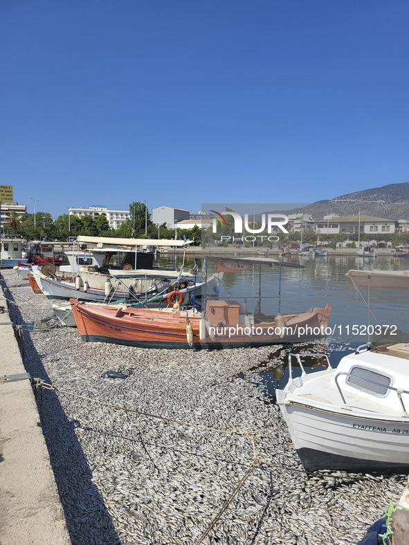
M 0 376 L 26 371 L 2 284 Z M 0 543 L 71 544 L 28 380 L 0 380 Z

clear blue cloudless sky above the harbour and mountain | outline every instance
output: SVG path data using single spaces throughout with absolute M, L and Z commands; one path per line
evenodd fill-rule
M 407 0 L 2 0 L 0 185 L 197 211 L 409 181 Z

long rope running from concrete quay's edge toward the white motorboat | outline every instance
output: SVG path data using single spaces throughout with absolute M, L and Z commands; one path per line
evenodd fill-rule
M 219 434 L 225 434 L 225 435 L 238 435 L 244 438 L 261 438 L 264 434 L 271 434 L 274 429 L 268 428 L 268 429 L 262 429 L 262 430 L 256 430 L 255 432 L 239 432 L 235 427 L 231 431 L 228 431 L 227 429 L 219 429 L 216 427 L 210 427 L 210 426 L 203 426 L 199 424 L 193 424 L 190 422 L 185 422 L 181 420 L 176 420 L 175 418 L 170 418 L 168 416 L 160 416 L 158 414 L 152 414 L 145 411 L 141 411 L 140 409 L 132 409 L 131 407 L 123 407 L 122 405 L 115 405 L 115 403 L 108 403 L 107 401 L 100 401 L 95 398 L 90 398 L 88 396 L 82 396 L 81 394 L 74 394 L 72 391 L 64 390 L 61 388 L 57 388 L 51 384 L 48 384 L 47 382 L 44 382 L 41 378 L 33 378 L 33 385 L 35 385 L 35 388 L 44 388 L 46 390 L 53 390 L 56 392 L 59 392 L 60 394 L 66 394 L 67 396 L 73 396 L 75 398 L 84 399 L 87 401 L 91 401 L 91 403 L 97 403 L 98 405 L 104 405 L 105 407 L 111 407 L 112 409 L 118 409 L 125 412 L 132 412 L 135 414 L 139 414 L 140 416 L 147 416 L 149 418 L 157 418 L 158 420 L 163 420 L 165 422 L 172 422 L 174 424 L 180 424 L 184 426 L 189 427 L 195 427 L 197 429 L 204 429 L 208 432 L 216 432 Z M 260 433 L 261 432 L 261 433 Z

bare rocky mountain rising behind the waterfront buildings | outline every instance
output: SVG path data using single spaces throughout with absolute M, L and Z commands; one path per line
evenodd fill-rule
M 327 214 L 350 214 L 376 216 L 385 219 L 409 219 L 409 182 L 391 183 L 372 190 L 347 193 L 332 198 L 330 201 L 316 201 L 303 208 L 287 210 L 288 214 L 304 212 L 311 214 L 313 219 L 320 220 Z

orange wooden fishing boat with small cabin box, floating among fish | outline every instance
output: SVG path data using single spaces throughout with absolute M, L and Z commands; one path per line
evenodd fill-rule
M 257 320 L 257 316 L 240 314 L 238 302 L 209 300 L 209 319 L 205 320 L 201 313 L 189 311 L 118 309 L 78 299 L 70 302 L 84 341 L 166 349 L 260 347 L 311 340 L 325 335 L 331 312 L 331 305 L 327 304 L 304 313 L 263 316 Z

